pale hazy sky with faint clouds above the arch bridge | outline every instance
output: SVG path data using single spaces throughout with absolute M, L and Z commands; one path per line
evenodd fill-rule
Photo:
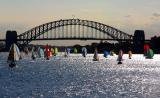
M 128 34 L 144 30 L 160 36 L 160 0 L 0 0 L 0 38 L 43 23 L 79 18 L 104 23 Z

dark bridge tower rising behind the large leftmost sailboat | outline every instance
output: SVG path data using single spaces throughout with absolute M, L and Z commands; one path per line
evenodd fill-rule
M 17 44 L 17 32 L 16 31 L 7 31 L 6 32 L 6 51 L 9 51 L 10 46 L 15 43 Z

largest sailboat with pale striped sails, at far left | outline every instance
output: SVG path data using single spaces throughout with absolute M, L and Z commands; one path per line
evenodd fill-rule
M 20 50 L 16 44 L 12 44 L 9 50 L 8 62 L 9 67 L 15 67 L 16 61 L 20 60 Z

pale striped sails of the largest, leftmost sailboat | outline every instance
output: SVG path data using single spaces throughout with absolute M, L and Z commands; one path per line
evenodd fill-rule
M 12 44 L 9 50 L 8 61 L 18 61 L 20 59 L 20 51 L 16 44 Z

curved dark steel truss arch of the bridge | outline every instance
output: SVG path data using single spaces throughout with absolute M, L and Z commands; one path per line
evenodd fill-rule
M 117 40 L 117 41 L 133 39 L 132 35 L 129 35 L 123 31 L 120 31 L 114 27 L 105 25 L 103 23 L 89 21 L 89 20 L 80 20 L 80 19 L 66 19 L 66 20 L 58 20 L 58 21 L 45 23 L 35 28 L 32 28 L 31 30 L 28 30 L 18 35 L 17 40 L 22 42 L 21 44 L 28 44 L 31 41 L 36 40 L 40 35 L 52 29 L 56 29 L 58 27 L 63 27 L 68 25 L 81 25 L 81 26 L 90 27 L 107 34 L 108 36 L 113 38 L 113 40 Z M 67 37 L 63 39 L 70 39 L 70 38 Z M 75 39 L 82 39 L 82 38 L 75 38 Z

